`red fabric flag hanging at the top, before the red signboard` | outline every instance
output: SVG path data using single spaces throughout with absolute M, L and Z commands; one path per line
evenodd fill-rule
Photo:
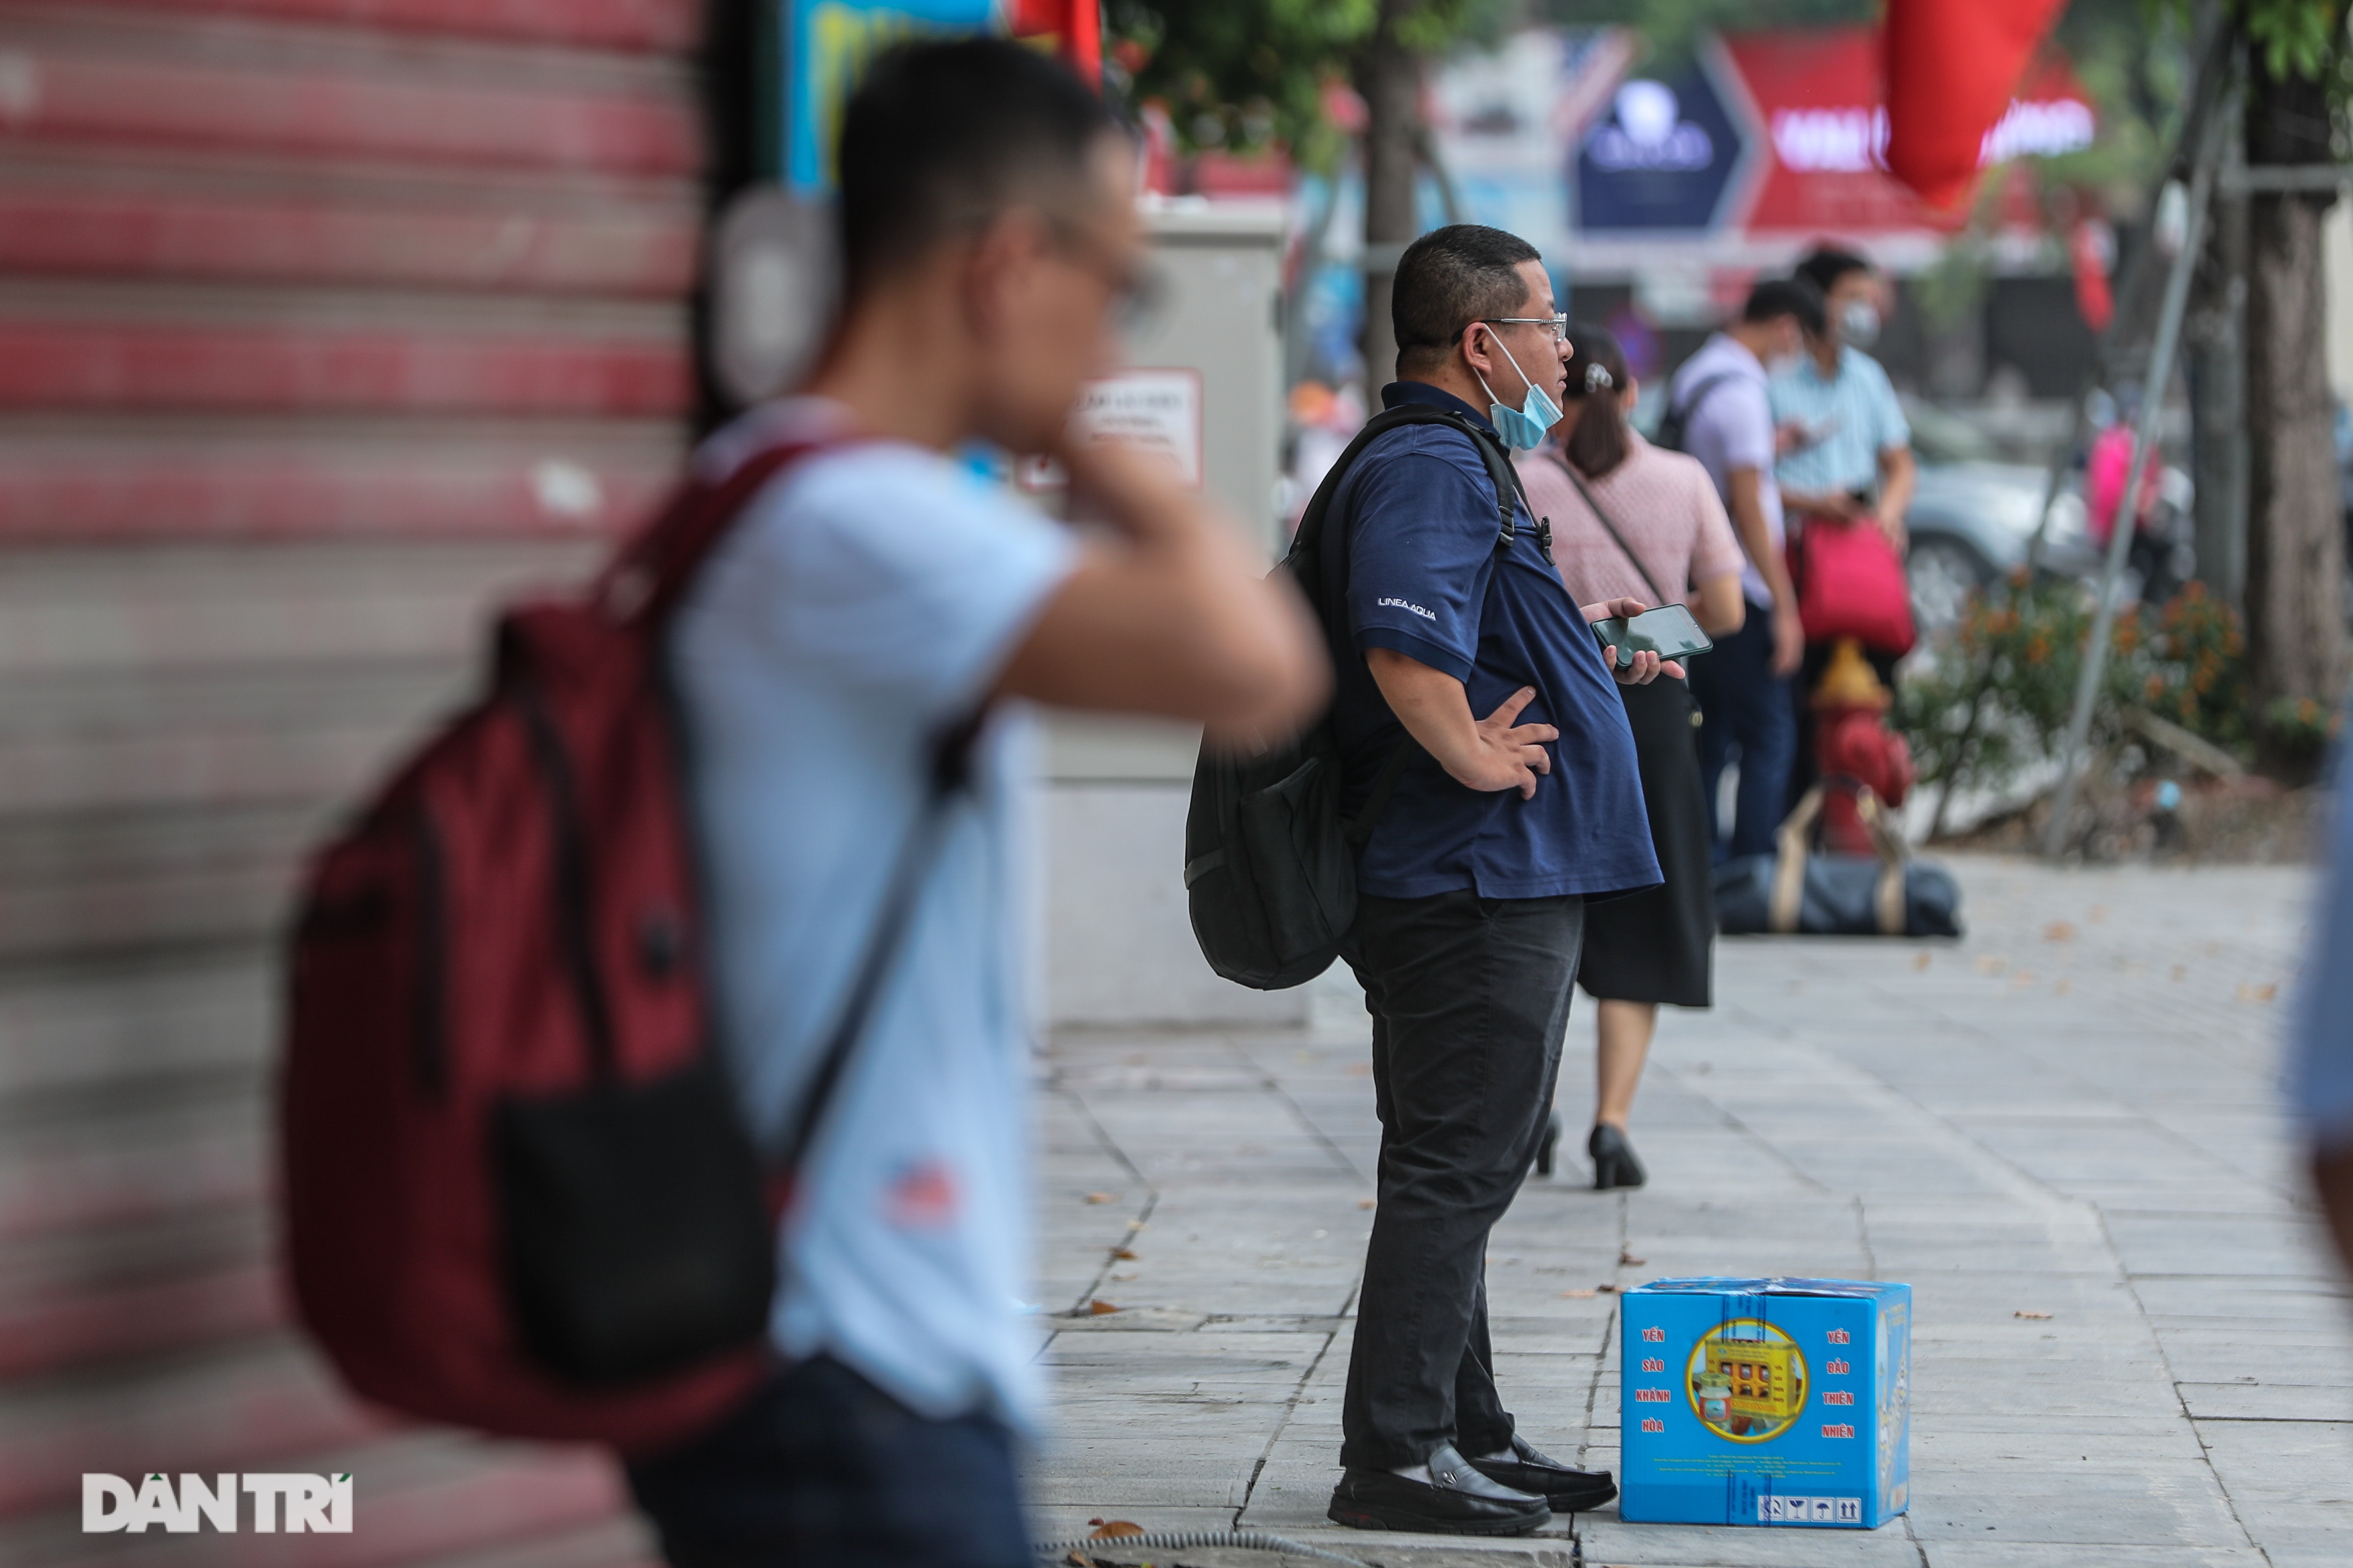
M 2035 45 L 2066 0 L 1887 0 L 1887 172 L 1929 207 L 1977 179 Z

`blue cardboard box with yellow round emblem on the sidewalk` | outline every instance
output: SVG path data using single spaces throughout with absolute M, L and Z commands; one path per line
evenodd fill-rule
M 1873 1530 L 1911 1493 L 1911 1286 L 1654 1279 L 1621 1298 L 1619 1516 Z

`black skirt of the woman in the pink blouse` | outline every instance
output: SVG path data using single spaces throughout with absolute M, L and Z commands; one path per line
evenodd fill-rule
M 1633 726 L 1649 842 L 1666 882 L 1586 910 L 1577 983 L 1605 1001 L 1711 1006 L 1715 872 L 1692 689 L 1661 675 L 1647 686 L 1619 686 L 1619 698 Z

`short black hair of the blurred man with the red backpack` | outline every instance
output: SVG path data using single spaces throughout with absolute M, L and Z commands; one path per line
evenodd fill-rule
M 998 212 L 1087 200 L 1089 158 L 1118 127 L 1068 66 L 1002 38 L 882 54 L 842 115 L 840 223 L 849 294 Z

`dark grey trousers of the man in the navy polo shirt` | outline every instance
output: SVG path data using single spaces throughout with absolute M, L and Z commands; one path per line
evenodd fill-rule
M 1487 1232 L 1553 1110 L 1584 898 L 1372 898 L 1341 950 L 1372 1004 L 1381 1201 L 1365 1251 L 1341 1465 L 1511 1446 L 1487 1345 Z

